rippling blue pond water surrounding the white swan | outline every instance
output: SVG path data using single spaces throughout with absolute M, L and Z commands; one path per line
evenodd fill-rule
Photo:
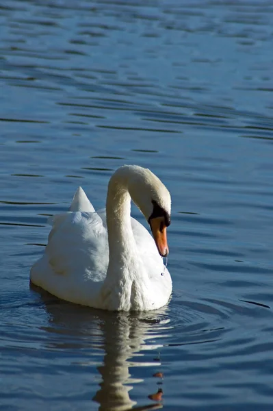
M 271 1 L 0 6 L 1 410 L 272 410 Z M 166 308 L 29 288 L 47 216 L 122 164 L 172 195 Z M 133 216 L 144 223 L 136 208 Z

